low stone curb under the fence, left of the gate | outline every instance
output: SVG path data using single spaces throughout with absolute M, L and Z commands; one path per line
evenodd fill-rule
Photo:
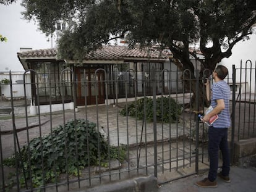
M 157 178 L 153 175 L 148 177 L 132 178 L 121 182 L 114 182 L 106 185 L 95 186 L 79 192 L 155 192 L 158 191 Z

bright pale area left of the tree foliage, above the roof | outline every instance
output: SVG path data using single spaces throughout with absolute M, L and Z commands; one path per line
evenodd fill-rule
M 0 72 L 24 71 L 17 57 L 20 48 L 51 48 L 51 40 L 38 30 L 35 22 L 22 19 L 20 12 L 24 8 L 20 2 L 9 6 L 0 4 L 0 34 L 7 38 L 7 42 L 0 42 Z

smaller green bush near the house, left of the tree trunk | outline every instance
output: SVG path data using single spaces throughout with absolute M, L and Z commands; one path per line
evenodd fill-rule
M 137 117 L 137 119 L 145 118 L 148 122 L 153 122 L 153 99 L 138 99 L 137 102 L 134 101 L 124 107 L 120 114 Z M 158 122 L 173 123 L 179 120 L 179 115 L 181 115 L 181 106 L 173 98 L 161 97 L 156 99 L 156 120 Z

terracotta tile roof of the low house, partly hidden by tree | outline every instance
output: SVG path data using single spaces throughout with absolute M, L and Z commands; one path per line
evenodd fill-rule
M 56 59 L 57 49 L 38 49 L 23 51 L 17 53 L 20 59 Z M 160 59 L 166 60 L 169 56 L 164 51 L 158 51 L 157 49 L 129 49 L 127 46 L 103 46 L 96 51 L 90 51 L 84 57 L 85 61 L 88 60 L 123 60 L 123 59 Z

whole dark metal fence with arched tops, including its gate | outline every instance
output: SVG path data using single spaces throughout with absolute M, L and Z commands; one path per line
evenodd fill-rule
M 255 105 L 250 106 L 251 103 L 255 103 L 255 85 L 253 93 L 251 84 L 249 86 L 245 83 L 245 93 L 242 93 L 244 80 L 237 84 L 237 70 L 233 67 L 233 77 L 227 79 L 233 88 L 233 99 L 231 99 L 233 127 L 230 134 L 232 156 L 234 155 L 234 140 L 241 139 L 241 128 L 237 130 L 234 127 L 234 115 L 237 112 L 240 114 L 241 110 L 247 112 L 249 109 L 252 112 L 248 117 L 249 122 L 255 125 Z M 255 69 L 250 70 L 254 70 L 250 78 L 254 77 L 255 80 Z M 95 75 L 98 72 L 105 73 L 105 77 L 116 77 L 108 75 L 103 69 L 96 70 Z M 132 70 L 127 70 L 127 72 L 132 72 Z M 206 70 L 205 73 L 207 72 Z M 86 78 L 81 78 L 83 82 L 70 79 L 68 85 L 72 86 L 70 90 L 74 91 L 70 104 L 76 103 L 75 86 L 77 83 L 83 83 L 85 87 L 90 83 L 94 83 L 95 87 L 104 85 L 105 104 L 96 102 L 96 105 L 88 106 L 85 99 L 85 106 L 67 109 L 67 104 L 62 99 L 63 102 L 59 103 L 61 111 L 54 111 L 58 104 L 52 104 L 51 97 L 49 97 L 48 108 L 40 104 L 33 106 L 36 107 L 36 115 L 30 115 L 32 107 L 29 105 L 30 98 L 26 93 L 31 83 L 24 80 L 25 97 L 23 100 L 15 100 L 12 91 L 15 86 L 19 85 L 12 83 L 10 72 L 11 84 L 9 86 L 12 97 L 10 101 L 1 101 L 1 106 L 6 105 L 5 109 L 11 109 L 11 115 L 2 115 L 0 119 L 1 191 L 72 191 L 142 175 L 155 175 L 158 183 L 161 184 L 198 173 L 200 169 L 208 166 L 208 127 L 199 122 L 197 117 L 197 114 L 202 112 L 199 107 L 200 102 L 202 103 L 199 95 L 206 94 L 202 89 L 203 86 L 200 87 L 203 85 L 203 79 L 199 78 L 199 72 L 192 74 L 190 71 L 185 71 L 184 73 L 189 77 L 195 75 L 196 78 L 188 78 L 186 81 L 172 80 L 171 73 L 173 71 L 163 70 L 150 74 L 151 78 L 143 79 L 127 75 L 128 78 L 124 78 L 122 82 L 118 78 L 102 79 L 100 83 L 89 81 Z M 51 74 L 48 75 L 50 76 Z M 248 81 L 245 78 L 245 82 Z M 48 83 L 49 95 L 51 95 L 51 83 L 45 83 Z M 194 84 L 196 85 L 195 93 L 192 93 Z M 65 86 L 65 83 L 59 82 L 59 85 Z M 124 85 L 125 98 L 118 98 L 119 85 Z M 142 88 L 143 95 L 137 94 L 138 85 Z M 148 96 L 148 90 L 146 90 L 148 85 L 152 91 L 151 96 Z M 239 92 L 235 91 L 238 85 L 240 85 Z M 47 88 L 47 86 L 44 87 Z M 247 102 L 248 86 L 251 91 L 250 102 Z M 36 87 L 40 86 L 36 85 Z M 132 97 L 130 95 L 128 97 L 127 94 L 130 87 L 134 90 Z M 114 90 L 114 96 L 109 96 L 109 89 Z M 86 90 L 86 88 L 83 89 L 83 91 Z M 62 94 L 64 92 L 60 91 Z M 95 93 L 95 101 L 98 101 L 97 91 Z M 252 99 L 252 94 L 254 99 Z M 83 95 L 86 96 L 87 93 Z M 245 96 L 244 102 L 242 102 L 243 95 Z M 193 97 L 197 110 L 192 107 L 187 108 L 191 101 L 190 98 Z M 244 105 L 243 108 L 242 105 Z M 237 106 L 238 111 L 236 111 Z M 45 108 L 49 112 L 42 113 L 46 110 Z M 242 121 L 241 115 L 238 119 Z M 244 119 L 247 119 L 247 116 Z M 67 140 L 71 125 L 74 125 L 70 131 L 70 134 L 74 133 L 73 143 Z M 82 125 L 85 125 L 85 129 L 80 127 Z M 91 134 L 91 132 L 88 134 L 90 127 L 93 127 L 98 134 L 95 142 L 88 139 L 88 135 Z M 81 130 L 83 132 L 80 132 Z M 54 136 L 61 135 L 63 132 L 65 136 L 62 138 L 61 146 L 64 151 L 59 152 L 57 148 L 59 140 Z M 243 131 L 242 135 L 251 136 L 251 133 L 255 133 L 254 126 Z M 83 152 L 85 164 L 80 163 L 83 144 L 79 141 L 82 138 L 84 138 L 83 144 L 87 143 L 85 152 Z M 30 153 L 36 151 L 32 147 L 36 142 L 35 148 L 38 148 L 36 156 L 40 156 L 38 160 L 40 165 L 33 165 L 35 154 Z M 92 147 L 92 144 L 95 144 L 96 149 Z M 22 154 L 26 147 L 27 153 Z M 74 150 L 70 152 L 70 148 Z M 96 151 L 96 157 L 92 156 L 93 151 Z M 101 156 L 104 152 L 105 156 Z M 51 156 L 45 159 L 47 153 Z M 12 158 L 8 159 L 11 156 Z M 58 159 L 59 156 L 60 159 Z M 91 161 L 93 158 L 95 162 Z M 49 160 L 51 160 L 51 169 L 47 167 Z M 59 167 L 58 161 L 63 162 L 64 165 Z M 71 165 L 72 161 L 74 164 Z M 36 167 L 40 168 L 40 172 L 36 172 Z M 36 177 L 35 173 L 37 173 Z

